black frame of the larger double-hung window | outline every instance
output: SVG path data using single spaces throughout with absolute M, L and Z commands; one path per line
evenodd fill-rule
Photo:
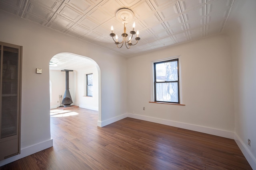
M 174 62 L 177 61 L 177 66 L 178 66 L 178 80 L 177 81 L 163 81 L 163 82 L 156 82 L 156 64 L 161 64 L 161 63 L 168 63 L 168 62 Z M 168 102 L 168 101 L 158 101 L 156 100 L 156 84 L 158 83 L 173 83 L 177 82 L 178 84 L 178 102 Z M 154 63 L 154 102 L 163 102 L 163 103 L 172 103 L 172 104 L 180 104 L 180 75 L 179 75 L 179 59 L 170 59 L 166 61 L 160 61 L 160 62 L 155 62 Z

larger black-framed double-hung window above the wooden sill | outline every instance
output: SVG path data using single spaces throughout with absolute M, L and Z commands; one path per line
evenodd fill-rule
M 180 103 L 178 59 L 154 63 L 154 101 Z

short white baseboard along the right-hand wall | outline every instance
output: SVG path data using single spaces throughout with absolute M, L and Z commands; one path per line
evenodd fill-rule
M 253 156 L 252 152 L 248 149 L 247 145 L 242 142 L 241 138 L 235 133 L 234 135 L 236 144 L 244 154 L 244 157 L 246 160 L 249 162 L 250 166 L 252 167 L 253 170 L 256 170 L 256 158 Z

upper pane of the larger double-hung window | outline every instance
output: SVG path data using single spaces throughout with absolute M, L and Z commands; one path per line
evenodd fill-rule
M 156 82 L 178 81 L 178 61 L 156 64 Z

